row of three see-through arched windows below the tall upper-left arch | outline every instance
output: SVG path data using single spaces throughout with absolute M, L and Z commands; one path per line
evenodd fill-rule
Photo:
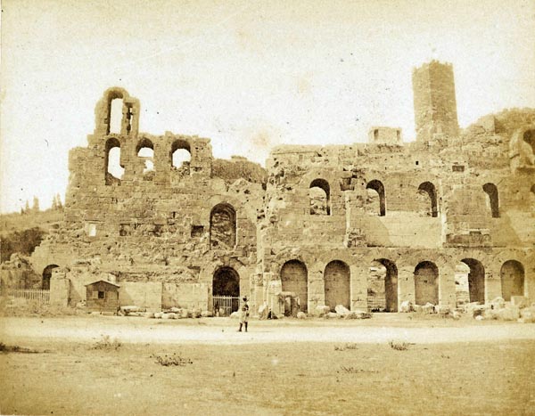
M 125 168 L 120 164 L 120 143 L 117 137 L 110 137 L 105 145 L 105 174 L 111 179 L 121 179 Z M 154 170 L 154 143 L 146 137 L 136 145 L 136 157 L 144 160 L 143 173 Z M 176 140 L 169 148 L 169 163 L 172 168 L 185 167 L 191 160 L 191 147 L 185 140 Z M 110 184 L 111 181 L 107 181 Z

